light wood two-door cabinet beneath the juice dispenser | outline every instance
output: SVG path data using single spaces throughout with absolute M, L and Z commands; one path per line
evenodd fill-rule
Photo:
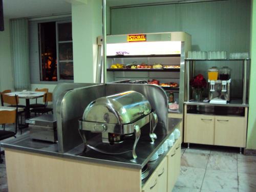
M 184 114 L 184 142 L 246 147 L 247 112 L 244 116 Z

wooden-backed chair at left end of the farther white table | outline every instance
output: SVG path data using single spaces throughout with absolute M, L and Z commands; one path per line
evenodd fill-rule
M 17 112 L 17 124 L 18 124 L 18 128 L 20 130 L 20 133 L 22 134 L 22 126 L 19 126 L 19 119 L 18 117 L 20 116 L 20 124 L 22 124 L 22 115 L 25 114 L 25 110 L 22 110 L 22 111 L 18 111 L 18 108 L 25 108 L 24 105 L 19 105 L 19 101 L 18 101 L 18 96 L 15 95 L 15 96 L 10 96 L 10 95 L 6 95 L 6 94 L 2 94 L 1 95 L 1 98 L 3 100 L 3 104 L 4 103 L 7 103 L 7 104 L 10 104 L 9 106 L 13 106 L 13 107 L 16 107 L 16 112 Z M 26 118 L 26 117 L 25 117 Z M 0 123 L 1 124 L 1 123 Z

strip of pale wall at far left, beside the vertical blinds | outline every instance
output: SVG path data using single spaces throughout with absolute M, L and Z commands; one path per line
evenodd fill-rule
M 9 19 L 4 19 L 5 31 L 0 31 L 0 91 L 13 90 Z

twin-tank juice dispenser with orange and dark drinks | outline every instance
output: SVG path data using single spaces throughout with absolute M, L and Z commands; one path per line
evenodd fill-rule
M 230 69 L 220 70 L 212 67 L 208 70 L 209 100 L 213 104 L 227 104 L 230 101 Z

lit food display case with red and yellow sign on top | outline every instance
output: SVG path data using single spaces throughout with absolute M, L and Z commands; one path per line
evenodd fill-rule
M 158 82 L 174 93 L 180 103 L 176 111 L 183 113 L 184 59 L 190 50 L 191 36 L 185 32 L 108 35 L 106 66 L 99 63 L 98 76 L 105 75 L 106 82 Z

